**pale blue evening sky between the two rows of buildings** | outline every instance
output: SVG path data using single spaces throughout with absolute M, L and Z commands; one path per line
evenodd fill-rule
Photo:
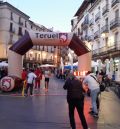
M 54 28 L 54 31 L 70 32 L 71 19 L 83 0 L 4 0 L 30 16 L 30 20 Z

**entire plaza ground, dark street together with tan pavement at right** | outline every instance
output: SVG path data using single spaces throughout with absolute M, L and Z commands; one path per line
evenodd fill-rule
M 42 86 L 33 97 L 20 93 L 0 94 L 0 129 L 69 129 L 64 80 L 52 77 L 49 91 Z M 91 129 L 120 129 L 120 100 L 109 90 L 101 95 L 99 119 L 88 114 L 90 98 L 85 98 L 85 116 Z M 77 129 L 82 129 L 77 112 Z

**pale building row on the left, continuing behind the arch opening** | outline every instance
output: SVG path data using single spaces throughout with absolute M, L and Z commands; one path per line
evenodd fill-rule
M 8 49 L 21 36 L 29 31 L 52 31 L 43 25 L 30 20 L 30 17 L 8 2 L 0 2 L 0 60 L 7 60 Z M 40 64 L 60 62 L 62 47 L 35 45 L 23 56 L 25 67 L 36 67 Z

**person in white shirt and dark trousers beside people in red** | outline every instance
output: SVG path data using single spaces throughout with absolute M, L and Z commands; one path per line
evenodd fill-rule
M 25 89 L 26 96 L 28 95 L 29 88 L 30 88 L 30 95 L 31 96 L 33 95 L 33 82 L 36 77 L 37 76 L 34 74 L 34 70 L 30 69 L 30 72 L 27 75 L 27 87 Z

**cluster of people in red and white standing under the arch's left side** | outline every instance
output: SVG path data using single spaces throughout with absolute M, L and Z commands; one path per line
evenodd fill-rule
M 23 69 L 22 71 L 22 81 L 23 81 L 23 89 L 25 92 L 25 96 L 33 96 L 33 88 L 35 90 L 40 91 L 41 80 L 45 78 L 45 91 L 48 92 L 49 87 L 49 78 L 51 76 L 50 68 L 46 67 L 44 69 L 36 68 L 36 69 Z M 30 93 L 28 90 L 30 89 Z

